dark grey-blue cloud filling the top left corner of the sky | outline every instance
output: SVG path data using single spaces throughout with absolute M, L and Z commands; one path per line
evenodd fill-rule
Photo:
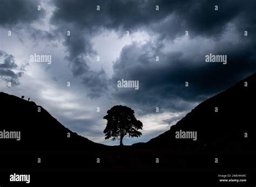
M 41 6 L 41 10 L 38 10 L 38 5 Z M 46 16 L 39 0 L 3 0 L 0 5 L 0 15 L 0 26 L 17 34 L 22 42 L 29 39 L 34 43 L 57 39 L 56 35 L 32 26 L 33 23 L 43 23 Z

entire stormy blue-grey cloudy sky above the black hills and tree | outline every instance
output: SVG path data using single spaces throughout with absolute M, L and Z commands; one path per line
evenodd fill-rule
M 0 2 L 0 91 L 106 145 L 119 145 L 104 140 L 112 106 L 131 107 L 144 126 L 124 144 L 146 142 L 256 69 L 254 0 Z M 51 64 L 31 62 L 35 53 Z M 207 63 L 210 53 L 227 64 Z M 118 88 L 122 79 L 139 89 Z

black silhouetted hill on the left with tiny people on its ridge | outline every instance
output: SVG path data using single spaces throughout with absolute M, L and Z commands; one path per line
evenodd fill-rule
M 2 150 L 56 150 L 103 147 L 60 124 L 42 106 L 0 92 Z M 20 140 L 6 139 L 20 132 Z M 17 134 L 18 135 L 18 134 Z

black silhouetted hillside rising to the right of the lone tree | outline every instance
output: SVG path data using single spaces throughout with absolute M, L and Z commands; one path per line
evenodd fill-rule
M 256 73 L 200 103 L 169 131 L 134 146 L 255 152 L 255 87 Z M 179 138 L 180 132 L 196 132 L 197 139 Z

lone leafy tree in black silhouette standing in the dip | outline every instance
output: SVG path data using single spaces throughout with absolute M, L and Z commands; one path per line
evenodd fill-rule
M 120 146 L 123 146 L 123 138 L 125 135 L 130 138 L 142 135 L 138 130 L 142 130 L 142 122 L 134 116 L 134 111 L 127 106 L 113 106 L 104 116 L 107 125 L 104 130 L 105 139 L 113 141 L 120 137 Z

